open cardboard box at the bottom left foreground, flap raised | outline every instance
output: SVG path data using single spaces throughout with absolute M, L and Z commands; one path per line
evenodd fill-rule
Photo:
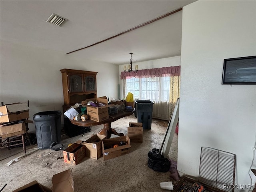
M 52 190 L 37 181 L 32 181 L 13 192 L 74 192 L 72 170 L 68 169 L 52 176 Z

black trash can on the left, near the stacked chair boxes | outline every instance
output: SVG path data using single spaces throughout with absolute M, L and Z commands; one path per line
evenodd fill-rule
M 39 149 L 49 149 L 53 142 L 60 143 L 60 117 L 60 111 L 43 111 L 34 114 Z

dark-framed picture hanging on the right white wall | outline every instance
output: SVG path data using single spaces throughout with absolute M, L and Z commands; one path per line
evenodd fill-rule
M 256 84 L 256 56 L 224 59 L 222 84 Z

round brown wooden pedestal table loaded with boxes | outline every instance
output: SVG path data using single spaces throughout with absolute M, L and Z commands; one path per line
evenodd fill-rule
M 101 125 L 103 124 L 103 129 L 101 129 L 98 134 L 101 134 L 101 135 L 106 135 L 106 138 L 110 138 L 112 134 L 114 135 L 118 135 L 118 136 L 124 136 L 123 133 L 118 133 L 116 132 L 116 130 L 112 129 L 111 128 L 111 123 L 120 119 L 120 118 L 123 118 L 123 117 L 126 117 L 126 116 L 130 116 L 134 113 L 135 109 L 133 111 L 118 111 L 118 114 L 114 114 L 114 115 L 111 115 L 109 116 L 109 118 L 107 120 L 104 120 L 102 122 L 96 122 L 96 121 L 93 121 L 93 120 L 87 120 L 87 121 L 82 121 L 82 120 L 72 120 L 70 119 L 70 122 L 74 125 L 78 125 L 78 126 L 82 126 L 82 127 L 89 127 L 89 126 L 95 126 L 95 125 Z

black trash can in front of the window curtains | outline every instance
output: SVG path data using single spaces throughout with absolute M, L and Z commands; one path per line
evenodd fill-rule
M 153 104 L 150 100 L 135 100 L 135 117 L 143 129 L 151 129 Z

